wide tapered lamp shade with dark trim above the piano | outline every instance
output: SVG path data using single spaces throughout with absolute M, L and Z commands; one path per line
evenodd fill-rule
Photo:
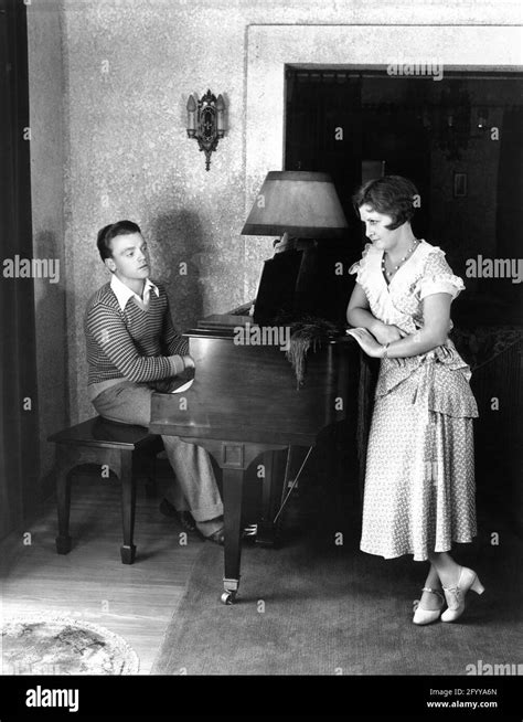
M 250 209 L 242 235 L 335 238 L 346 219 L 329 173 L 271 170 Z

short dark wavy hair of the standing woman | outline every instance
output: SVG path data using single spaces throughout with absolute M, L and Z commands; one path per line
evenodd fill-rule
M 416 185 L 408 178 L 384 176 L 363 183 L 352 197 L 352 202 L 357 215 L 362 205 L 371 205 L 373 211 L 389 215 L 393 222 L 385 227 L 394 231 L 413 217 L 416 195 Z

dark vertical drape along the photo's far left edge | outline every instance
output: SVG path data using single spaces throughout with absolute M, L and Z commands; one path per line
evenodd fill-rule
M 31 278 L 6 276 L 6 261 L 32 257 L 25 6 L 0 0 L 1 414 L 0 537 L 39 502 L 39 428 Z

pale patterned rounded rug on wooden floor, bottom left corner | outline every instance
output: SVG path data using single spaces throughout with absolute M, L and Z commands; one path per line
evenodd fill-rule
M 136 675 L 137 654 L 105 627 L 39 615 L 2 624 L 2 675 Z

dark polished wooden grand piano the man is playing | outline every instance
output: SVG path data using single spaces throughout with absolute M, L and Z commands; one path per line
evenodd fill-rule
M 239 586 L 242 498 L 249 465 L 258 459 L 265 467 L 257 541 L 270 543 L 280 481 L 275 477 L 281 467 L 276 453 L 310 449 L 325 427 L 359 412 L 361 354 L 352 337 L 333 335 L 309 351 L 298 387 L 280 346 L 238 343 L 238 338 L 256 339 L 254 328 L 250 316 L 202 319 L 184 335 L 196 367 L 192 385 L 181 393 L 157 392 L 151 405 L 151 432 L 204 447 L 223 471 L 224 604 L 235 601 Z

